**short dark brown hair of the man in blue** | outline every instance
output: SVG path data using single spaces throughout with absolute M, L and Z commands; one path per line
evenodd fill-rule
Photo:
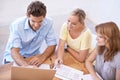
M 33 1 L 27 7 L 27 14 L 33 15 L 35 17 L 38 16 L 46 16 L 47 10 L 44 3 L 41 1 Z

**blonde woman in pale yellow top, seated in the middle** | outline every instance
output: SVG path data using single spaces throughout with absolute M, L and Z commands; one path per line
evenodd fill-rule
M 63 24 L 55 65 L 63 63 L 64 47 L 77 61 L 84 62 L 91 48 L 91 32 L 85 25 L 86 14 L 82 9 L 75 9 Z

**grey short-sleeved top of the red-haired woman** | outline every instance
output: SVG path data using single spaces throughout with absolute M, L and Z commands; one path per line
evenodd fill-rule
M 115 80 L 116 69 L 120 69 L 120 52 L 114 56 L 112 61 L 104 62 L 104 54 L 97 54 L 95 70 L 103 80 Z

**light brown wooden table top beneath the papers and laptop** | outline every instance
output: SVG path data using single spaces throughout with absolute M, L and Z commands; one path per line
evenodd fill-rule
M 56 59 L 56 53 L 50 56 L 44 63 L 51 64 L 51 60 L 54 63 Z M 85 68 L 84 63 L 80 63 L 75 60 L 68 52 L 64 53 L 63 62 L 65 65 L 73 67 L 75 69 L 81 70 L 84 74 L 88 74 L 88 70 Z M 11 66 L 13 63 L 5 64 L 0 66 L 0 80 L 11 80 Z M 60 80 L 59 78 L 54 77 L 53 80 Z

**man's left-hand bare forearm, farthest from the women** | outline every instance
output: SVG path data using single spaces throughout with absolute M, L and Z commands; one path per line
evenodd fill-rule
M 12 48 L 11 49 L 11 56 L 15 60 L 15 62 L 20 65 L 20 66 L 28 66 L 27 62 L 25 59 L 22 57 L 22 55 L 19 53 L 20 49 L 19 48 Z

